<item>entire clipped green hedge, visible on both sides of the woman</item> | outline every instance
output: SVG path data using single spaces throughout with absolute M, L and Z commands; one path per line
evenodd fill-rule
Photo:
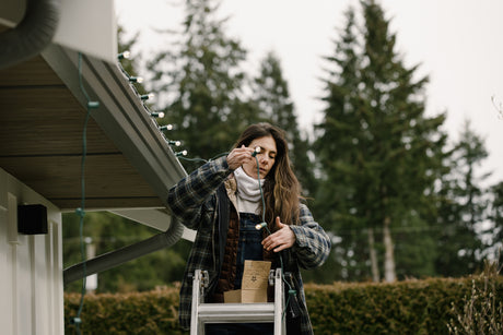
M 499 276 L 493 283 L 495 301 L 501 303 L 503 279 Z M 448 334 L 447 323 L 457 316 L 453 307 L 463 312 L 470 299 L 473 302 L 473 284 L 480 288 L 480 298 L 487 285 L 481 277 L 396 284 L 308 284 L 305 292 L 315 334 Z M 77 314 L 79 302 L 79 294 L 65 295 L 66 334 L 75 333 L 70 320 Z M 177 309 L 177 287 L 86 295 L 80 328 L 83 334 L 184 334 L 178 327 Z M 501 310 L 496 316 L 501 320 Z

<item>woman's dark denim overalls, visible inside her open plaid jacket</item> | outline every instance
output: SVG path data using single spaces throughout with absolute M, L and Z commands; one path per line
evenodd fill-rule
M 243 279 L 243 272 L 245 260 L 262 261 L 264 247 L 262 230 L 257 230 L 255 226 L 260 224 L 261 219 L 256 214 L 239 213 L 239 242 L 237 244 L 236 256 L 236 279 L 234 282 L 234 289 L 241 289 L 241 282 Z M 227 323 L 227 324 L 208 324 L 207 334 L 219 335 L 246 335 L 253 334 L 267 335 L 273 333 L 272 323 Z

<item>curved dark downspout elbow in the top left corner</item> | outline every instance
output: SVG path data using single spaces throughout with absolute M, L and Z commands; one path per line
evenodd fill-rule
M 52 40 L 60 0 L 27 0 L 23 20 L 0 34 L 0 70 L 39 55 Z

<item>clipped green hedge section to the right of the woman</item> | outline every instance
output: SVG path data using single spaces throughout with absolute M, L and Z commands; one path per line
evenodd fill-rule
M 306 289 L 315 334 L 448 334 L 470 280 L 336 284 Z

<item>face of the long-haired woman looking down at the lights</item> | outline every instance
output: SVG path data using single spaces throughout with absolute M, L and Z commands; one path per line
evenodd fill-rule
M 252 148 L 256 148 L 257 146 L 260 146 L 260 153 L 258 153 L 256 157 L 258 158 L 260 179 L 264 179 L 276 163 L 276 155 L 278 154 L 276 148 L 276 141 L 272 136 L 269 135 L 255 139 L 248 145 L 248 147 Z M 257 179 L 257 159 L 253 159 L 250 163 L 244 164 L 243 170 L 245 170 L 246 175 L 249 177 Z

